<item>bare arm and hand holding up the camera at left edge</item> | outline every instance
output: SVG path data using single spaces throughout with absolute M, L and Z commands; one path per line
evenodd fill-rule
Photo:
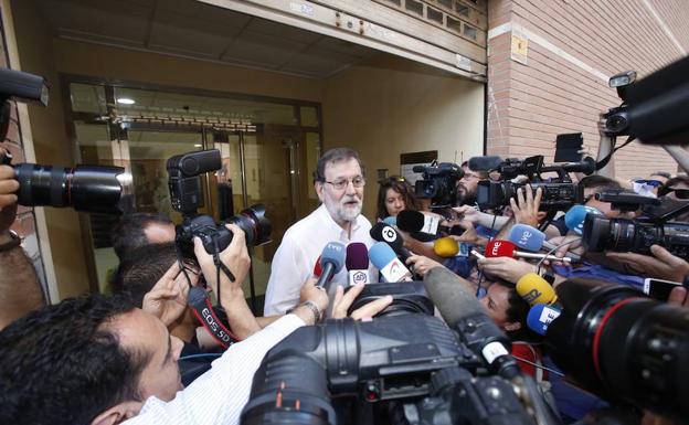
M 10 230 L 17 216 L 18 189 L 14 169 L 0 166 L 0 329 L 44 305 L 33 264 L 21 247 L 19 235 Z

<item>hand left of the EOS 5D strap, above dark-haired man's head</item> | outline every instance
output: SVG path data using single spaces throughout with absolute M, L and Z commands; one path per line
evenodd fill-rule
M 191 275 L 191 284 L 199 281 L 198 275 Z M 177 262 L 166 272 L 156 285 L 144 296 L 141 309 L 170 326 L 182 316 L 187 307 L 189 284 Z

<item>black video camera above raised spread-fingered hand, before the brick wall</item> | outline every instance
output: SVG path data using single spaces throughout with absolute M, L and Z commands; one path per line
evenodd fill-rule
M 595 170 L 593 158 L 586 157 L 580 162 L 564 162 L 553 166 L 543 166 L 543 156 L 538 155 L 524 160 L 507 159 L 499 157 L 471 158 L 469 168 L 477 171 L 497 171 L 502 181 L 481 180 L 478 182 L 476 201 L 481 210 L 499 209 L 509 205 L 509 200 L 517 195 L 517 190 L 527 183 L 515 183 L 509 179 L 526 176 L 536 193 L 539 188 L 543 192 L 541 198 L 541 211 L 566 210 L 570 206 L 583 202 L 584 190 L 568 174 L 569 172 L 582 172 L 591 174 Z M 544 179 L 544 172 L 556 172 L 556 178 Z

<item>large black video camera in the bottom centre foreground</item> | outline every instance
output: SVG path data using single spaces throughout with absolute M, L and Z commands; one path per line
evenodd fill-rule
M 531 423 L 511 384 L 481 364 L 435 317 L 327 320 L 268 352 L 241 423 Z

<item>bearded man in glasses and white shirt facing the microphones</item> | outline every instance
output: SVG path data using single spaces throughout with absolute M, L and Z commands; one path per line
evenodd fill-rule
M 365 176 L 359 155 L 349 148 L 328 150 L 318 160 L 315 180 L 322 204 L 285 232 L 273 257 L 265 316 L 285 314 L 298 304 L 301 283 L 312 275 L 329 242 L 362 242 L 367 247 L 374 243 L 369 234 L 371 223 L 361 215 Z M 377 273 L 370 267 L 370 276 Z M 346 284 L 347 269 L 342 267 L 332 277 L 331 288 Z

